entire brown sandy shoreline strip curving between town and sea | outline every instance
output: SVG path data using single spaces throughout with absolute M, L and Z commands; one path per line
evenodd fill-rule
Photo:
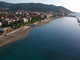
M 52 18 L 44 19 L 43 22 L 38 22 L 35 27 L 43 25 L 43 24 L 47 24 L 51 20 L 54 20 L 57 18 L 60 18 L 60 17 L 56 17 L 56 18 L 52 17 Z M 34 27 L 28 27 L 25 25 L 12 32 L 9 32 L 7 36 L 0 37 L 0 47 L 3 47 L 9 43 L 12 43 L 12 42 L 15 42 L 16 40 L 24 38 L 25 36 L 28 35 L 29 31 L 32 30 L 33 28 Z

